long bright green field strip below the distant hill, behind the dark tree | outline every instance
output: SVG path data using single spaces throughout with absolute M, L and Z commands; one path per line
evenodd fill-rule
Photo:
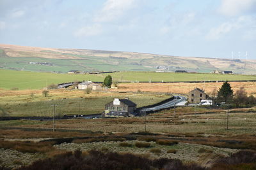
M 57 74 L 0 69 L 0 89 L 42 89 L 51 83 L 70 81 L 103 81 L 108 74 Z M 116 81 L 220 81 L 256 80 L 255 75 L 204 74 L 204 73 L 156 73 L 118 72 L 111 73 Z

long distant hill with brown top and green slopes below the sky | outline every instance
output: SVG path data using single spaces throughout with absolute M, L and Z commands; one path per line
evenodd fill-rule
M 220 69 L 255 74 L 256 60 L 179 57 L 136 52 L 0 45 L 0 68 L 24 71 L 164 71 L 210 73 Z

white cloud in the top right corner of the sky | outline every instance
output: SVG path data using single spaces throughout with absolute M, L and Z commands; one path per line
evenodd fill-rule
M 235 16 L 252 10 L 255 6 L 256 0 L 222 0 L 219 11 L 223 15 Z

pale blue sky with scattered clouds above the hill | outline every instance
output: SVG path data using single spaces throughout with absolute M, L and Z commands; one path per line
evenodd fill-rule
M 0 0 L 0 43 L 256 59 L 256 0 Z

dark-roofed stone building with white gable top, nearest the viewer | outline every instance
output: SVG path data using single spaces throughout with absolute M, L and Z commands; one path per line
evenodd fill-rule
M 133 117 L 136 107 L 129 99 L 114 99 L 105 105 L 104 117 Z

